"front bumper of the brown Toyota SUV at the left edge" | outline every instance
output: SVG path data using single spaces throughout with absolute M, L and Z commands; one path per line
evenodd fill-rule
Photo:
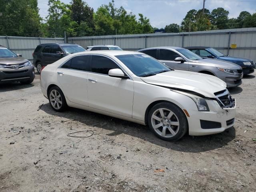
M 1 70 L 0 84 L 18 81 L 26 81 L 35 77 L 34 66 L 20 68 L 18 70 Z

